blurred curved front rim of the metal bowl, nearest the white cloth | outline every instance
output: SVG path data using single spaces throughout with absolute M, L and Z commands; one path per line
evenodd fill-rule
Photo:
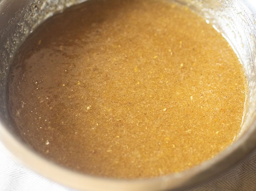
M 6 1 L 7 2 L 7 1 Z M 255 6 L 256 7 L 256 6 Z M 248 129 L 210 160 L 183 172 L 144 179 L 114 179 L 91 176 L 61 167 L 33 151 L 0 121 L 0 141 L 16 161 L 61 185 L 78 190 L 172 190 L 199 184 L 228 170 L 256 149 L 256 120 Z

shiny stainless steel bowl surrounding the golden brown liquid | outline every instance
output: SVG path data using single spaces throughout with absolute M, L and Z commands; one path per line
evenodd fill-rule
M 223 172 L 256 147 L 256 3 L 254 0 L 176 0 L 187 5 L 227 38 L 248 80 L 246 115 L 238 139 L 199 166 L 168 176 L 138 180 L 94 177 L 71 171 L 32 151 L 11 125 L 6 109 L 6 79 L 20 44 L 41 22 L 81 0 L 0 0 L 0 140 L 14 158 L 60 184 L 80 190 L 172 190 Z

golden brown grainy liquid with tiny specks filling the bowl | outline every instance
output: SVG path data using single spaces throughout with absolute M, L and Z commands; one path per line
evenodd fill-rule
M 245 87 L 227 41 L 186 7 L 94 0 L 20 47 L 9 110 L 23 139 L 62 166 L 152 177 L 224 150 L 240 130 Z

